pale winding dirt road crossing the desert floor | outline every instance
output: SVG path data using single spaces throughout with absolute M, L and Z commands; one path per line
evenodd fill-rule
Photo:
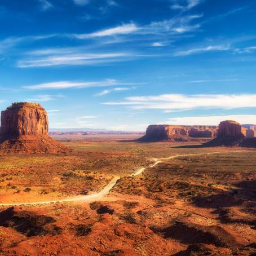
M 200 155 L 213 155 L 213 154 L 222 154 L 222 153 L 231 153 L 231 152 L 241 152 L 241 151 L 219 151 L 219 152 L 210 152 L 210 153 L 195 153 L 195 154 L 185 154 L 185 155 L 175 155 L 175 156 L 170 156 L 170 157 L 165 157 L 165 158 L 152 158 L 152 161 L 154 161 L 153 164 L 140 168 L 138 171 L 136 171 L 134 174 L 131 174 L 130 176 L 138 176 L 143 173 L 145 169 L 152 168 L 160 162 L 164 160 L 170 160 L 174 159 L 177 157 L 185 157 L 185 156 L 200 156 Z M 56 204 L 60 202 L 75 202 L 75 201 L 85 201 L 85 202 L 90 202 L 90 201 L 95 201 L 99 200 L 100 198 L 107 196 L 109 191 L 116 185 L 118 180 L 120 180 L 120 176 L 114 177 L 111 182 L 103 188 L 100 192 L 94 193 L 91 195 L 85 195 L 85 196 L 80 196 L 80 197 L 70 197 L 70 198 L 65 198 L 61 200 L 54 200 L 54 201 L 42 201 L 42 202 L 20 202 L 20 203 L 11 203 L 11 204 L 0 204 L 0 206 L 15 206 L 15 205 L 46 205 L 46 204 Z

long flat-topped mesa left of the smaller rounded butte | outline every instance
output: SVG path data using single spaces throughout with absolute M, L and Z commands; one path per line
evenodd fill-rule
M 216 136 L 216 126 L 176 126 L 176 125 L 149 125 L 146 134 L 140 142 L 172 142 L 187 141 L 189 138 L 213 138 Z

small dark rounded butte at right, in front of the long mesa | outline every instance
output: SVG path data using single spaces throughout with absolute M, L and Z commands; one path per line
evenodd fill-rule
M 219 124 L 217 138 L 206 143 L 208 146 L 236 146 L 245 138 L 245 129 L 236 121 L 223 121 Z

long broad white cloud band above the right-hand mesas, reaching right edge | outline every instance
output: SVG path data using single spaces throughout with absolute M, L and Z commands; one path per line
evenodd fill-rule
M 157 96 L 133 96 L 124 101 L 103 103 L 106 105 L 127 105 L 133 109 L 235 109 L 256 107 L 256 94 L 162 94 Z

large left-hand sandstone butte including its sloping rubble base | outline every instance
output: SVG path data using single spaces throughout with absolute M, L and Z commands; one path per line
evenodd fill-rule
M 61 143 L 48 136 L 48 116 L 39 103 L 13 103 L 1 113 L 1 153 L 65 153 Z

